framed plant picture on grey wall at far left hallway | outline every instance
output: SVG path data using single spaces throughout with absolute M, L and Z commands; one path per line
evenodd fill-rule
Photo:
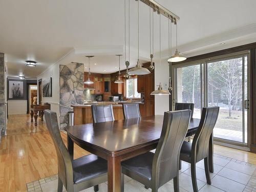
M 8 81 L 8 98 L 24 99 L 24 81 L 20 81 L 20 80 Z

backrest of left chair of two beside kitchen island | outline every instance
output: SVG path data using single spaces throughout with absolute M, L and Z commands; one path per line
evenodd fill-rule
M 94 123 L 115 120 L 112 104 L 92 105 L 92 116 Z

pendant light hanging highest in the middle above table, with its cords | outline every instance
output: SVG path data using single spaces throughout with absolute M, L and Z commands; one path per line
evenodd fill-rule
M 135 68 L 132 68 L 129 70 L 130 75 L 146 75 L 149 74 L 150 71 L 146 68 L 143 68 L 141 65 L 141 62 L 139 60 L 139 0 L 136 0 L 138 2 L 138 61 Z

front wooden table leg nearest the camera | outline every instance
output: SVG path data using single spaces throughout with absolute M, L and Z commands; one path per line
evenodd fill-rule
M 121 191 L 121 162 L 118 157 L 108 158 L 108 192 Z

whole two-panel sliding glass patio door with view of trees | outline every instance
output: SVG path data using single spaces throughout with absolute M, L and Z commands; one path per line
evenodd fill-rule
M 249 135 L 248 53 L 173 66 L 175 102 L 195 103 L 194 118 L 203 106 L 219 106 L 216 141 L 247 146 Z

